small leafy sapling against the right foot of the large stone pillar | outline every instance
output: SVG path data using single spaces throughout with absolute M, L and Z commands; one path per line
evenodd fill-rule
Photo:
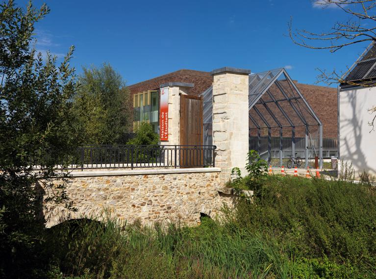
M 257 151 L 250 150 L 248 152 L 246 170 L 248 171 L 250 189 L 259 189 L 268 176 L 268 162 L 260 159 Z

